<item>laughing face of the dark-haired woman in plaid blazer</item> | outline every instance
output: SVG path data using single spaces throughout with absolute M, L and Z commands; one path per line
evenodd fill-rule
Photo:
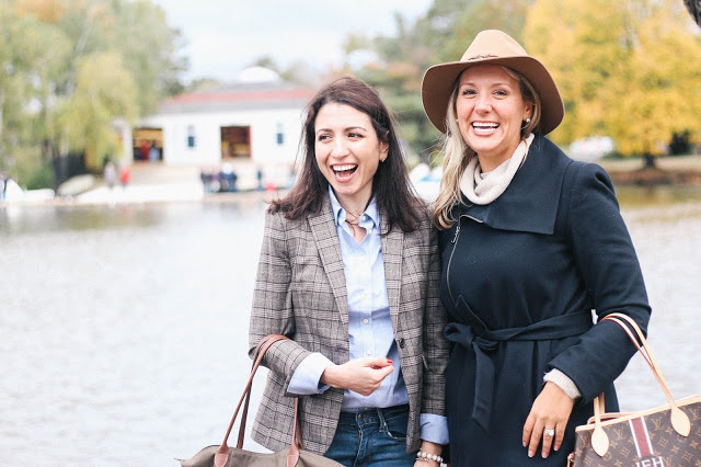
M 341 205 L 364 209 L 372 195 L 372 178 L 389 144 L 380 141 L 370 117 L 357 109 L 329 103 L 314 121 L 314 153 L 321 173 Z

